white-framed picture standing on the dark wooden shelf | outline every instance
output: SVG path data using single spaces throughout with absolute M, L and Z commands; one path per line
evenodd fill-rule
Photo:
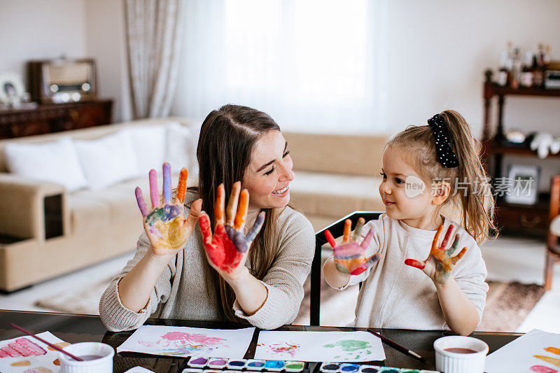
M 540 167 L 526 164 L 510 164 L 507 167 L 508 190 L 505 202 L 510 204 L 536 204 Z

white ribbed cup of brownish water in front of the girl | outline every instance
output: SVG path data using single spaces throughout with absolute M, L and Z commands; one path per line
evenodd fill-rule
M 461 348 L 474 353 L 456 353 L 445 349 Z M 480 339 L 450 335 L 433 342 L 435 369 L 444 373 L 483 373 L 488 345 Z

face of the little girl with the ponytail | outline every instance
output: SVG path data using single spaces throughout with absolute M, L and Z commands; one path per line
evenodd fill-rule
M 405 151 L 394 145 L 385 149 L 379 194 L 389 217 L 402 220 L 411 227 L 431 229 L 435 209 L 431 183 L 426 183 L 407 162 L 403 156 Z

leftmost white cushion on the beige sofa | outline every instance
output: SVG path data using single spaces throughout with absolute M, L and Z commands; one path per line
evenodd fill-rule
M 13 174 L 64 185 L 74 192 L 87 187 L 72 139 L 64 136 L 46 143 L 8 143 L 6 167 Z

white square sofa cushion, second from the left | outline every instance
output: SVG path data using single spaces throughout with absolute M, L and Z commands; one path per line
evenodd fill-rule
M 120 130 L 95 140 L 75 140 L 91 190 L 101 190 L 137 176 L 138 164 L 130 132 Z

